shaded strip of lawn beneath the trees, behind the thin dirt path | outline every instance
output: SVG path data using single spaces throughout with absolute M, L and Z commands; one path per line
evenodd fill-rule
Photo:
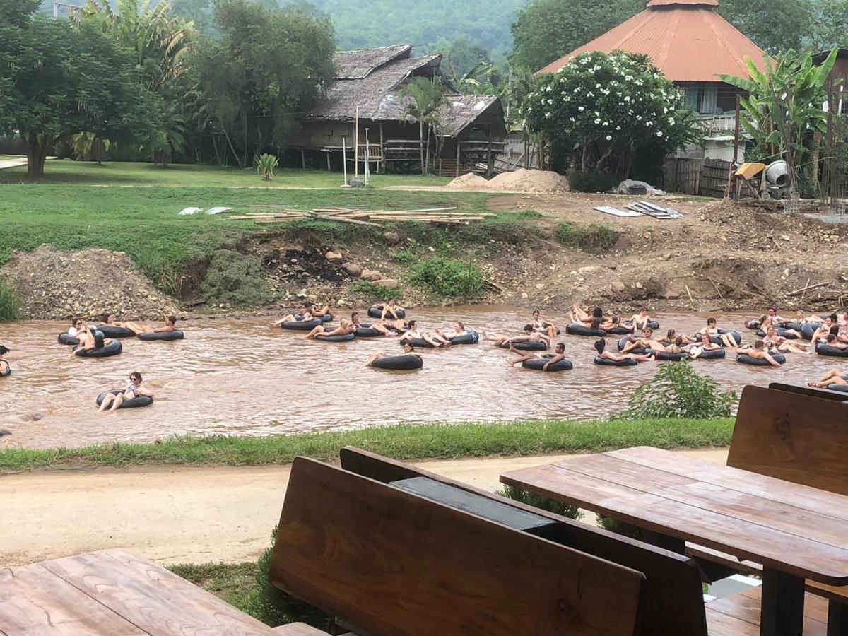
M 4 156 L 0 155 L 0 159 Z M 14 158 L 13 158 L 14 159 Z M 349 177 L 352 175 L 349 175 Z M 444 186 L 448 177 L 421 175 L 372 175 L 372 187 Z M 26 167 L 0 171 L 0 183 L 26 182 Z M 103 186 L 158 187 L 260 187 L 260 188 L 330 188 L 338 190 L 343 183 L 340 172 L 326 170 L 277 170 L 272 181 L 262 181 L 256 170 L 221 168 L 210 165 L 178 165 L 156 168 L 153 164 L 106 162 L 103 165 L 71 159 L 51 159 L 44 166 L 42 183 Z

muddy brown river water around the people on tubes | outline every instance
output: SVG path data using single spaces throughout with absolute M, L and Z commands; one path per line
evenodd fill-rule
M 751 315 L 756 312 L 750 312 Z M 517 334 L 528 311 L 503 307 L 451 307 L 410 311 L 430 332 L 466 328 Z M 553 318 L 564 327 L 565 320 Z M 706 315 L 658 315 L 661 330 L 692 333 Z M 719 326 L 742 328 L 744 314 L 717 315 Z M 172 435 L 244 436 L 327 431 L 396 422 L 584 419 L 621 410 L 628 396 L 656 372 L 656 363 L 635 367 L 592 364 L 594 338 L 563 336 L 573 371 L 541 373 L 506 364 L 508 352 L 491 343 L 423 349 L 422 371 L 365 367 L 377 352 L 399 353 L 397 338 L 360 338 L 320 343 L 302 332 L 281 332 L 267 318 L 181 323 L 186 339 L 171 343 L 123 339 L 123 354 L 100 360 L 70 359 L 56 342 L 66 324 L 0 325 L 0 343 L 12 349 L 14 373 L 0 379 L 0 428 L 13 435 L 0 447 L 49 448 L 112 441 L 150 442 Z M 696 368 L 725 388 L 745 384 L 807 382 L 840 365 L 818 355 L 789 354 L 783 368 L 698 361 Z M 126 386 L 140 371 L 155 403 L 112 415 L 96 412 L 106 388 Z

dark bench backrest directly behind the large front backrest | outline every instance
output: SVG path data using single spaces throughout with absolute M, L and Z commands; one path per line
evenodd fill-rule
M 365 450 L 347 447 L 342 449 L 340 455 L 345 470 L 383 483 L 423 477 L 464 490 L 476 497 L 532 512 L 546 523 L 529 528 L 527 532 L 644 573 L 647 583 L 640 612 L 641 633 L 652 636 L 678 636 L 680 633 L 706 636 L 700 572 L 695 561 L 688 557 L 538 510 Z

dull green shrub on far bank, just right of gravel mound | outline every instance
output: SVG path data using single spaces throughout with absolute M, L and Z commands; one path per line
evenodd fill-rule
M 204 281 L 200 283 L 200 296 L 208 304 L 255 307 L 271 302 L 273 293 L 257 259 L 228 249 L 217 249 L 209 261 Z

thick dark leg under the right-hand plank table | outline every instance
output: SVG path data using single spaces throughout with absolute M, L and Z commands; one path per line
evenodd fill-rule
M 763 567 L 760 636 L 801 636 L 803 628 L 803 577 Z

